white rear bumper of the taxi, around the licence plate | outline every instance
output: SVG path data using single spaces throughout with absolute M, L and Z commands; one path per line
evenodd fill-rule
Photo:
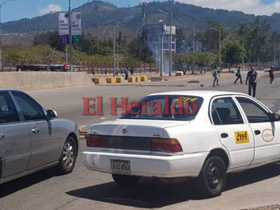
M 158 178 L 197 177 L 209 152 L 176 156 L 124 154 L 85 151 L 83 163 L 88 170 L 112 172 L 112 160 L 130 161 L 131 175 Z

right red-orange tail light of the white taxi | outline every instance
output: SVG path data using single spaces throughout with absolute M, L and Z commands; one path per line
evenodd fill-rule
M 152 138 L 151 151 L 176 153 L 183 152 L 183 148 L 175 138 Z

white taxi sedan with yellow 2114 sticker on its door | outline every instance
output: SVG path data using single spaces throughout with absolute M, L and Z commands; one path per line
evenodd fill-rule
M 197 178 L 206 197 L 226 174 L 280 160 L 280 116 L 241 93 L 176 91 L 149 95 L 120 119 L 91 126 L 83 163 L 124 187 L 140 177 Z

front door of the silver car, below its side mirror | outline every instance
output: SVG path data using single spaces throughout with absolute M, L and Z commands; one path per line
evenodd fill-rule
M 43 108 L 30 96 L 12 92 L 31 135 L 31 159 L 28 169 L 44 166 L 59 160 L 62 145 Z

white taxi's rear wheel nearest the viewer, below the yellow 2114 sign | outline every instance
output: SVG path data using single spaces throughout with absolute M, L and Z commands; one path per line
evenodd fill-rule
M 197 179 L 197 189 L 206 198 L 221 195 L 226 184 L 224 161 L 218 156 L 211 156 L 202 166 Z

